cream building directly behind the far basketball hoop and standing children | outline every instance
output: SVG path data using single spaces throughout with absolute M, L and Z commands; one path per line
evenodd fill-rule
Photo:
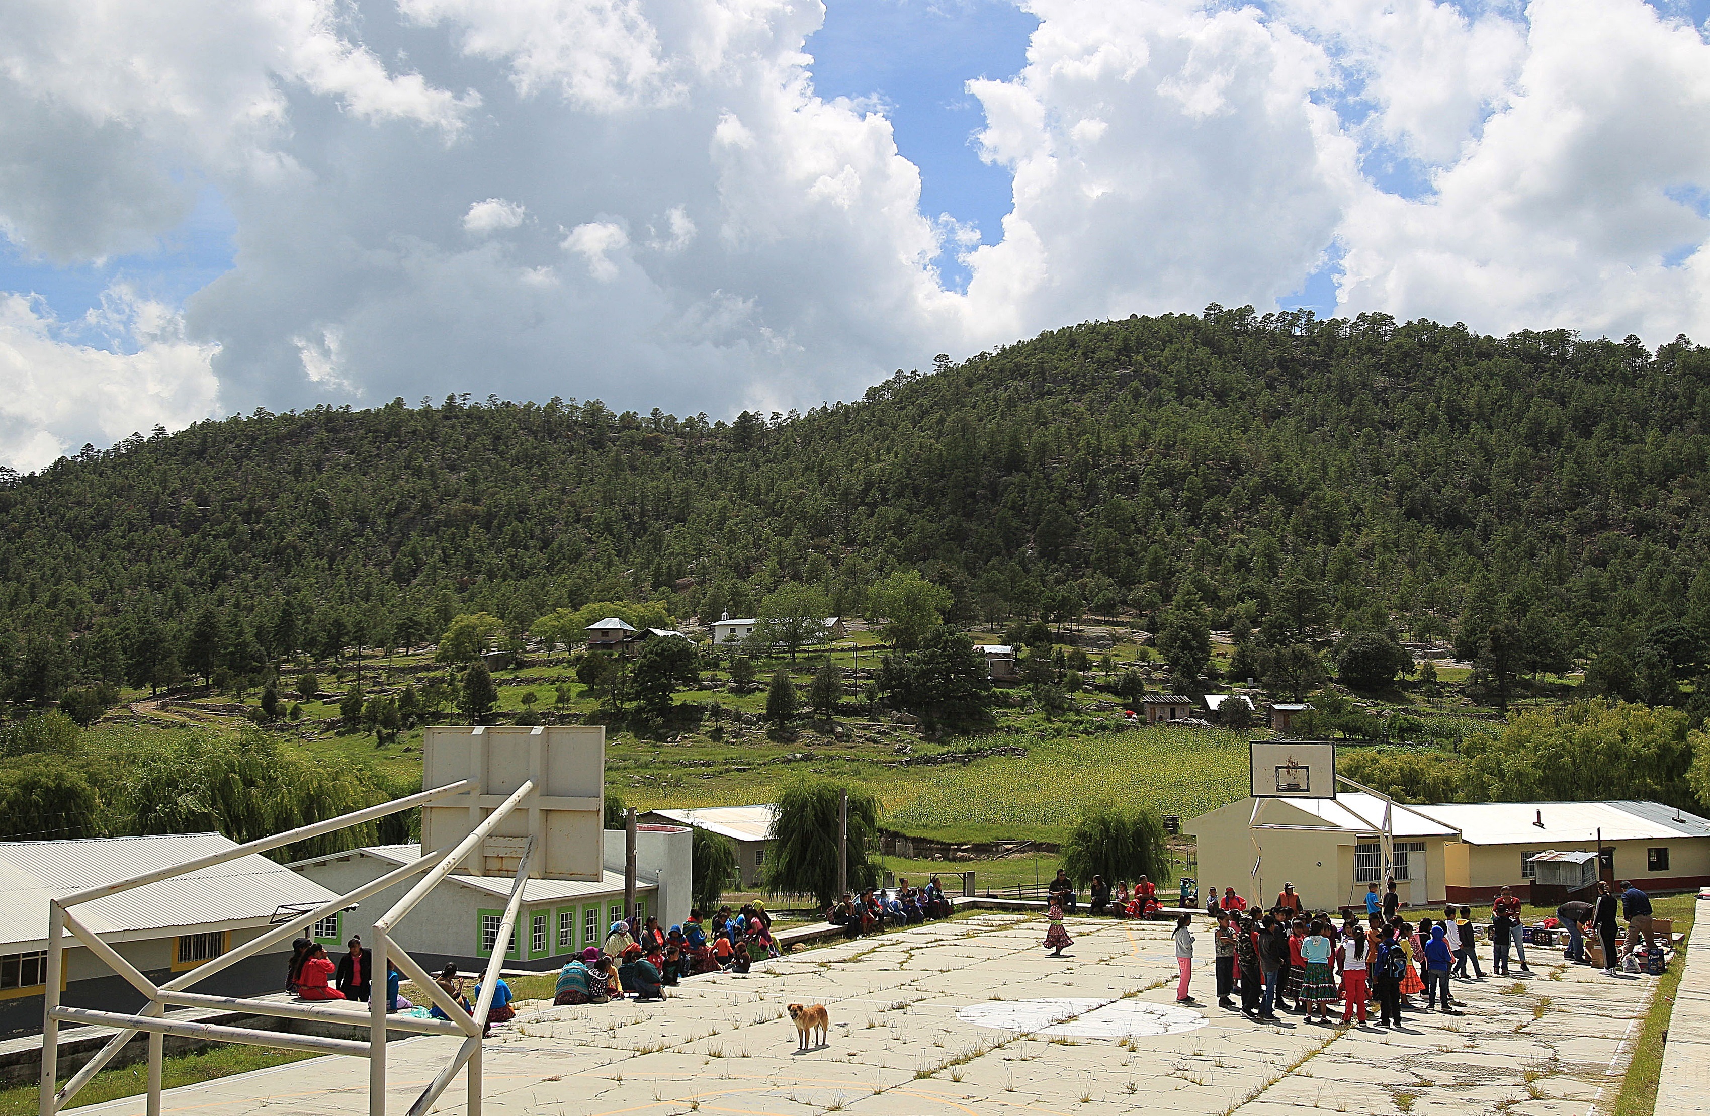
M 1390 808 L 1395 889 L 1411 907 L 1443 902 L 1445 849 L 1460 834 L 1424 814 Z M 1248 904 L 1269 907 L 1293 884 L 1312 909 L 1361 906 L 1366 885 L 1383 882 L 1383 800 L 1365 793 L 1336 798 L 1240 798 L 1182 824 L 1197 839 L 1202 889 L 1233 887 Z

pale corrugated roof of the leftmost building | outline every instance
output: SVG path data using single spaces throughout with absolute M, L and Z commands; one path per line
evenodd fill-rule
M 221 853 L 238 844 L 217 832 L 0 843 L 0 945 L 41 949 L 48 901 L 101 884 Z M 335 892 L 260 853 L 188 875 L 92 899 L 72 914 L 108 942 L 157 938 L 162 931 L 265 925 L 282 904 L 320 904 Z

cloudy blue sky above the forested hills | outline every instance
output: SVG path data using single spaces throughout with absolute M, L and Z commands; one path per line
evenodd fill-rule
M 1710 337 L 1710 0 L 0 0 L 0 463 L 1209 302 Z

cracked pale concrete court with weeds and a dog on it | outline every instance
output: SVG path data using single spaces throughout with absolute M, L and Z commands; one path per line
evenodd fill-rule
M 1530 978 L 1457 981 L 1460 1017 L 1412 1012 L 1399 1031 L 1296 1015 L 1265 1025 L 1216 1007 L 1209 926 L 1195 928 L 1197 1008 L 1175 1003 L 1170 925 L 1070 919 L 1076 943 L 1052 959 L 1043 919 L 1009 913 L 696 978 L 665 1003 L 522 1003 L 487 1043 L 484 1111 L 1583 1116 L 1619 1087 L 1654 988 L 1537 950 Z M 788 1003 L 829 1008 L 828 1046 L 795 1053 Z M 455 1046 L 393 1043 L 390 1111 L 404 1113 Z M 363 1060 L 332 1056 L 176 1089 L 162 1111 L 357 1116 L 366 1089 Z M 434 1111 L 462 1109 L 463 1095 L 458 1080 Z M 140 1114 L 144 1097 L 82 1111 Z

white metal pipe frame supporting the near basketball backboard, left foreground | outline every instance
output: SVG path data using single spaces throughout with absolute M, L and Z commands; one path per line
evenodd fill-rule
M 428 802 L 438 802 L 451 795 L 467 793 L 470 798 L 481 795 L 481 786 L 472 779 L 463 779 L 458 783 L 450 783 L 419 795 L 410 795 L 407 798 L 397 798 L 393 802 L 385 802 L 376 807 L 368 807 L 366 810 L 356 810 L 354 814 L 345 814 L 342 817 L 328 819 L 325 822 L 315 822 L 313 825 L 303 825 L 301 829 L 292 829 L 289 832 L 275 834 L 272 837 L 262 837 L 260 841 L 250 841 L 248 844 L 239 844 L 236 848 L 226 849 L 222 853 L 210 853 L 207 856 L 198 856 L 197 860 L 185 861 L 181 865 L 173 865 L 168 868 L 157 868 L 128 880 L 120 880 L 116 884 L 103 884 L 99 887 L 91 887 L 62 899 L 53 899 L 48 902 L 48 986 L 43 1005 L 43 1027 L 41 1027 L 41 1116 L 55 1116 L 62 1111 L 79 1089 L 87 1085 L 101 1068 L 113 1060 L 115 1054 L 132 1039 L 139 1031 L 149 1036 L 149 1107 L 147 1116 L 161 1114 L 161 1066 L 164 1060 L 164 1037 L 168 1034 L 192 1036 L 198 1039 L 212 1039 L 219 1043 L 241 1043 L 248 1046 L 280 1046 L 287 1049 L 306 1049 L 321 1054 L 351 1054 L 356 1058 L 368 1058 L 368 1111 L 369 1116 L 385 1116 L 386 1113 L 386 1029 L 405 1031 L 416 1034 L 443 1034 L 462 1037 L 463 1044 L 457 1049 L 457 1054 L 439 1070 L 433 1084 L 416 1099 L 409 1109 L 409 1116 L 421 1116 L 439 1099 L 439 1094 L 446 1090 L 451 1078 L 465 1065 L 469 1066 L 469 1116 L 481 1116 L 481 1039 L 486 1031 L 487 1013 L 492 1008 L 492 993 L 498 986 L 499 969 L 504 964 L 504 952 L 510 949 L 511 933 L 516 925 L 516 916 L 522 911 L 523 901 L 523 884 L 528 878 L 528 861 L 534 858 L 534 837 L 528 837 L 528 844 L 522 855 L 522 865 L 516 870 L 515 882 L 511 885 L 510 902 L 504 906 L 504 919 L 499 926 L 499 940 L 494 943 L 492 957 L 487 960 L 487 969 L 481 983 L 481 996 L 475 1001 L 474 1013 L 463 1012 L 463 1008 L 441 990 L 433 978 L 410 957 L 397 942 L 392 940 L 392 930 L 398 921 L 410 913 L 410 909 L 421 902 L 428 892 L 431 892 L 441 880 L 445 880 L 457 865 L 462 863 L 470 851 L 474 851 L 492 829 L 504 820 L 513 810 L 522 807 L 535 791 L 534 779 L 525 781 L 516 788 L 501 805 L 498 805 L 492 814 L 489 814 L 482 822 L 469 832 L 462 841 L 458 841 L 450 849 L 438 849 L 421 856 L 419 860 L 404 865 L 393 872 L 381 875 L 376 880 L 357 887 L 337 899 L 325 902 L 311 911 L 303 911 L 292 914 L 291 921 L 275 926 L 274 930 L 263 933 L 262 937 L 239 945 L 238 949 L 221 954 L 212 960 L 197 966 L 190 972 L 183 972 L 164 984 L 156 984 L 135 966 L 125 960 L 111 945 L 101 940 L 92 930 L 89 930 L 82 921 L 72 914 L 72 907 L 89 902 L 92 899 L 104 899 L 108 896 L 116 896 L 120 892 L 132 890 L 135 887 L 144 887 L 145 884 L 156 884 L 159 880 L 169 880 L 173 877 L 185 875 L 186 872 L 197 872 L 200 868 L 209 868 L 212 865 L 226 863 L 229 860 L 238 860 L 239 856 L 248 856 L 250 853 L 265 853 L 268 849 L 277 849 L 280 846 L 291 844 L 294 841 L 304 841 L 308 837 L 316 837 L 321 834 L 335 832 L 339 829 L 347 829 L 351 825 L 359 825 L 363 822 L 371 822 L 376 817 L 386 817 L 388 814 L 398 814 L 402 810 L 410 810 Z M 386 962 L 390 960 L 402 971 L 409 979 L 416 981 L 419 988 L 428 993 L 428 998 L 439 1007 L 441 1012 L 450 1015 L 450 1020 L 438 1019 L 410 1019 L 410 1017 L 390 1017 L 386 1013 L 386 988 L 385 976 L 371 984 L 376 988 L 374 995 L 369 995 L 368 1015 L 363 1017 L 354 1012 L 344 1012 L 339 1008 L 315 1007 L 304 1003 L 275 1003 L 272 1000 L 248 1000 L 236 996 L 207 996 L 200 993 L 185 991 L 197 981 L 226 969 L 246 957 L 253 957 L 267 950 L 279 942 L 287 940 L 292 933 L 311 926 L 321 918 L 342 911 L 352 902 L 361 902 L 369 896 L 376 896 L 381 890 L 398 884 L 402 880 L 412 878 L 424 873 L 421 882 L 416 884 L 402 899 L 398 899 L 390 911 L 374 919 L 374 943 L 373 943 L 373 972 L 385 974 Z M 75 942 L 67 942 L 65 933 Z M 125 1015 L 120 1012 L 94 1012 L 84 1008 L 60 1007 L 60 979 L 65 971 L 65 949 L 68 945 L 82 945 L 91 954 L 106 962 L 118 976 L 128 981 L 137 991 L 149 998 L 149 1003 L 133 1015 Z M 368 1027 L 368 1041 L 359 1039 L 328 1039 L 310 1034 L 289 1034 L 282 1031 L 255 1031 L 248 1027 L 227 1027 L 221 1024 L 200 1024 L 190 1020 L 166 1019 L 168 1007 L 205 1007 L 205 1008 L 233 1008 L 245 1010 L 255 1015 L 272 1015 L 279 1019 L 299 1019 L 299 1020 L 321 1020 L 321 1022 L 340 1022 L 357 1027 Z M 94 1024 L 103 1027 L 118 1027 L 118 1034 L 103 1046 L 94 1058 L 91 1058 L 68 1082 L 63 1089 L 58 1089 L 58 1043 L 60 1043 L 60 1024 Z

